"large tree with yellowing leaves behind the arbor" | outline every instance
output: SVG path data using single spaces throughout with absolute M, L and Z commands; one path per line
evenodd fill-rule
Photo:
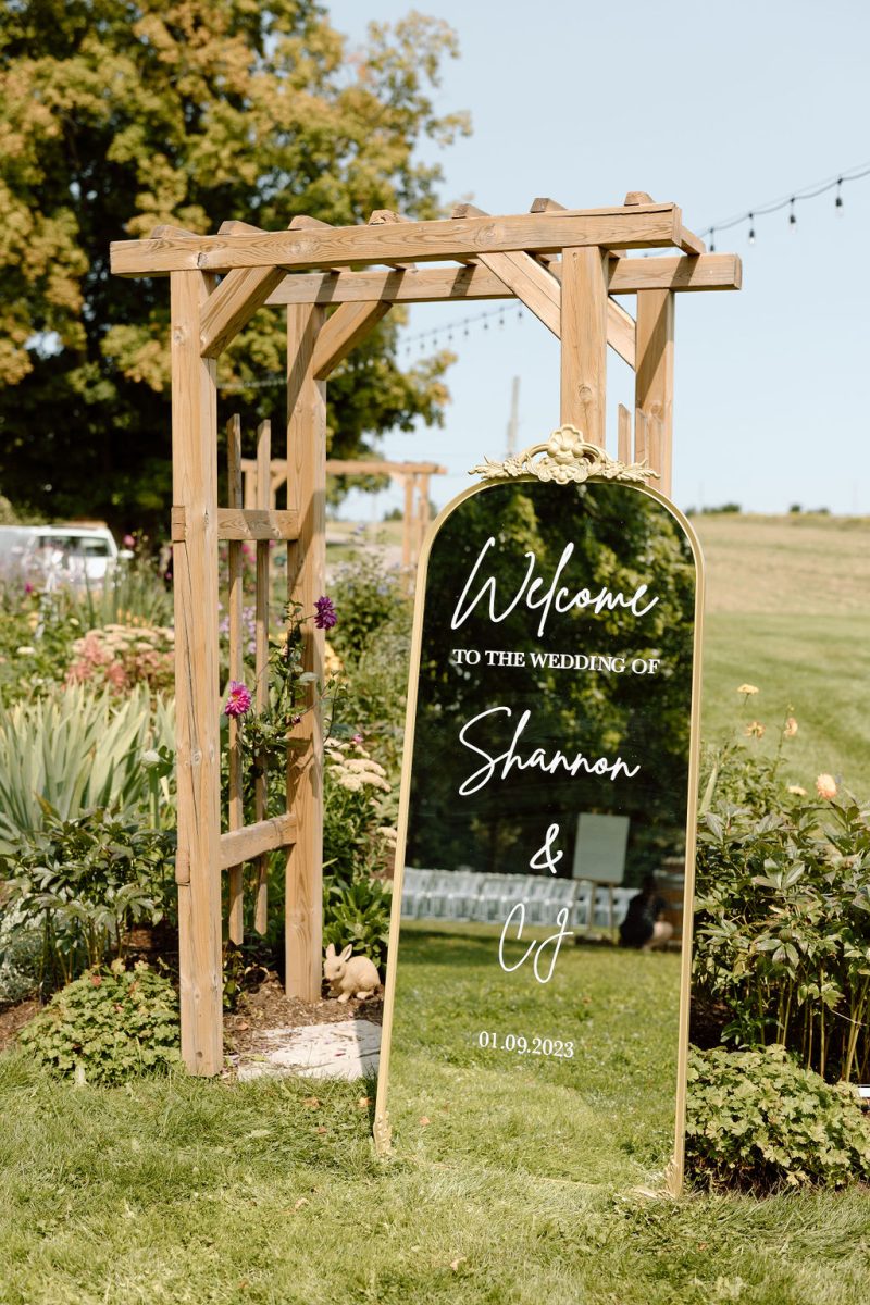
M 450 29 L 411 14 L 348 51 L 316 0 L 0 0 L 0 488 L 53 515 L 155 522 L 170 493 L 168 292 L 108 245 L 159 223 L 429 218 L 463 115 L 430 87 Z M 442 354 L 402 372 L 386 318 L 330 386 L 331 453 L 440 423 Z M 219 367 L 222 408 L 280 422 L 280 315 Z

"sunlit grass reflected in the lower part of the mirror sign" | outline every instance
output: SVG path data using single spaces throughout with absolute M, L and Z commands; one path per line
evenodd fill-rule
M 398 1152 L 455 1164 L 473 1138 L 501 1172 L 661 1185 L 673 1148 L 680 957 L 569 944 L 544 1001 L 528 968 L 496 964 L 500 932 L 403 928 L 389 1104 Z M 550 932 L 527 929 L 506 947 L 507 963 Z M 481 1032 L 500 1049 L 481 1048 Z M 535 1035 L 558 1040 L 571 1054 L 503 1051 L 505 1035 L 530 1048 Z

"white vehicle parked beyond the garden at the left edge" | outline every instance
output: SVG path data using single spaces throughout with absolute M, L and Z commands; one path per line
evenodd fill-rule
M 3 526 L 0 577 L 52 587 L 57 583 L 102 583 L 117 565 L 108 526 Z

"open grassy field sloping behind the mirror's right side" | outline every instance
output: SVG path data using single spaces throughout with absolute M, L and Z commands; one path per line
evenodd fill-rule
M 776 750 L 787 709 L 798 733 L 783 778 L 811 790 L 836 775 L 870 792 L 870 519 L 695 517 L 707 560 L 703 736 L 760 720 Z M 736 689 L 754 684 L 743 705 Z

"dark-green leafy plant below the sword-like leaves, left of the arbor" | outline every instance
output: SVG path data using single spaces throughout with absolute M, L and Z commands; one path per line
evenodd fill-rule
M 18 919 L 8 945 L 39 928 L 43 989 L 121 957 L 132 925 L 162 919 L 173 852 L 173 834 L 106 810 L 64 821 L 47 809 L 44 829 L 0 857 L 7 904 Z

